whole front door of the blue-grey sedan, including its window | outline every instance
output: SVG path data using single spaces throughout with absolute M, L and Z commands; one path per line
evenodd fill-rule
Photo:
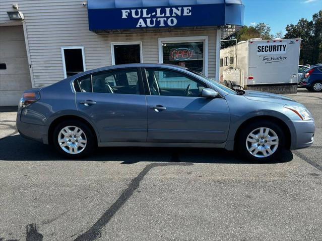
M 206 86 L 182 73 L 147 68 L 148 142 L 223 143 L 230 114 L 224 98 L 200 97 Z

